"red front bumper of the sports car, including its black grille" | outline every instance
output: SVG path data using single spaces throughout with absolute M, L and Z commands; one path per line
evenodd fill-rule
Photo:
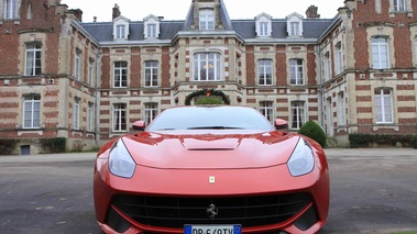
M 315 233 L 328 215 L 329 172 L 319 164 L 301 177 L 292 177 L 285 165 L 237 170 L 138 166 L 131 179 L 111 175 L 106 164 L 98 159 L 94 178 L 97 221 L 106 233 L 184 233 L 184 224 L 235 223 L 243 233 Z M 208 218 L 211 203 L 222 216 Z

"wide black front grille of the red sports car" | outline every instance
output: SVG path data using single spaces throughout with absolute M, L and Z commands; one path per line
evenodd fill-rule
M 183 229 L 184 224 L 241 224 L 243 227 L 287 221 L 311 202 L 308 193 L 256 197 L 116 196 L 112 204 L 138 223 Z M 207 209 L 216 205 L 217 215 Z

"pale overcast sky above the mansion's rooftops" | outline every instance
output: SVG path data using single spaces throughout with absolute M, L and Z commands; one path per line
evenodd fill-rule
M 81 9 L 83 22 L 110 22 L 117 3 L 121 14 L 131 21 L 142 21 L 150 14 L 165 20 L 185 20 L 193 0 L 62 0 L 69 9 Z M 309 5 L 318 7 L 321 19 L 333 18 L 344 0 L 223 0 L 231 20 L 253 19 L 267 13 L 274 19 L 297 12 L 303 16 Z

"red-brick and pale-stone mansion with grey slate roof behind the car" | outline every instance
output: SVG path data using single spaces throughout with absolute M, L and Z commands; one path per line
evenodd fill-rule
M 85 23 L 62 0 L 0 0 L 0 138 L 20 140 L 17 154 L 48 137 L 89 149 L 205 89 L 289 131 L 316 121 L 340 146 L 417 133 L 417 1 L 252 20 L 230 19 L 228 0 L 188 1 L 182 21 L 127 19 L 116 4 L 111 22 Z

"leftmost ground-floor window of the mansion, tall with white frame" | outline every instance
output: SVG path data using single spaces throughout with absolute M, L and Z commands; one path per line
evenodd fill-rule
M 41 96 L 37 93 L 23 97 L 23 129 L 41 127 Z

